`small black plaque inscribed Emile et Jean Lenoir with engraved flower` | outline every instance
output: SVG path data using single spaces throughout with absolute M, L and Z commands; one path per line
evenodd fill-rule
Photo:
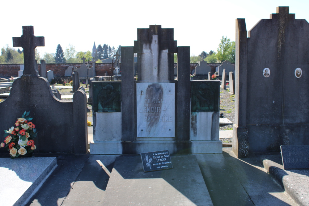
M 168 150 L 141 153 L 144 172 L 173 168 Z

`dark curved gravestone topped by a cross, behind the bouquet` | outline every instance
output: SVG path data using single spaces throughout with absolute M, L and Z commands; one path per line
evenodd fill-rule
M 44 46 L 44 37 L 34 36 L 33 26 L 23 26 L 23 35 L 13 37 L 13 45 L 24 49 L 23 75 L 13 82 L 9 97 L 0 103 L 0 129 L 7 130 L 25 111 L 30 111 L 38 132 L 39 153 L 86 153 L 86 94 L 77 91 L 73 102 L 57 99 L 48 81 L 36 73 L 36 46 Z M 0 152 L 7 151 L 0 148 Z

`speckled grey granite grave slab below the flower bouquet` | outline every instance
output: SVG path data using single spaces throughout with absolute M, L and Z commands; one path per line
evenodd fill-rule
M 57 166 L 55 157 L 0 158 L 1 205 L 24 205 Z

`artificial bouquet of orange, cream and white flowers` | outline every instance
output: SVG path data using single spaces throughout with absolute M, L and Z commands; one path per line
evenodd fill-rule
M 0 147 L 5 147 L 10 151 L 12 159 L 18 158 L 20 155 L 30 154 L 36 149 L 33 140 L 37 135 L 36 125 L 30 122 L 33 118 L 28 116 L 29 113 L 30 111 L 25 111 L 22 117 L 15 122 L 15 127 L 4 131 L 4 143 L 1 142 Z

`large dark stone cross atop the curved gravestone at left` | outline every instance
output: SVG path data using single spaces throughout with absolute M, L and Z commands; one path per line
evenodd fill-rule
M 45 46 L 44 36 L 34 36 L 33 26 L 23 26 L 23 35 L 13 37 L 13 47 L 22 47 L 24 55 L 23 74 L 36 75 L 36 61 L 34 49 L 37 46 Z

